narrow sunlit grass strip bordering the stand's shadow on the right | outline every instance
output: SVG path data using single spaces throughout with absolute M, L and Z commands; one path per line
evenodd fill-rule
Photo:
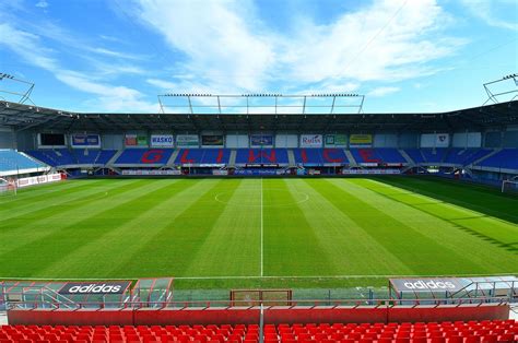
M 466 234 L 482 239 L 484 243 L 493 243 L 498 247 L 505 248 L 507 251 L 518 253 L 518 249 L 516 249 L 518 247 L 514 247 L 514 245 L 518 244 L 518 225 L 514 223 L 423 194 L 408 193 L 407 190 L 386 185 L 382 180 L 358 180 L 358 184 L 389 199 L 449 222 L 456 228 L 460 228 Z M 506 200 L 505 202 L 507 200 L 514 201 L 506 198 L 504 200 Z M 460 236 L 466 238 L 467 235 Z

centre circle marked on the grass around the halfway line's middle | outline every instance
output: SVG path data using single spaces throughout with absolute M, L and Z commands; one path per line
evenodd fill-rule
M 239 189 L 239 190 L 243 191 L 243 189 Z M 250 194 L 250 192 L 252 191 L 258 192 L 258 194 L 257 196 Z M 291 197 L 285 200 L 275 199 L 275 194 L 273 193 L 273 197 L 271 194 L 272 191 L 278 192 L 279 194 L 289 192 Z M 268 196 L 264 197 L 267 192 L 268 192 Z M 286 191 L 285 189 L 282 189 L 282 188 L 263 188 L 262 201 L 261 201 L 261 194 L 259 193 L 259 190 L 257 188 L 250 188 L 249 191 L 245 190 L 245 193 L 243 194 L 243 197 L 234 197 L 234 196 L 235 196 L 234 191 L 224 191 L 224 192 L 217 193 L 214 197 L 214 200 L 220 203 L 224 203 L 224 204 L 228 204 L 233 206 L 239 206 L 239 208 L 261 208 L 261 206 L 262 208 L 283 208 L 283 206 L 296 205 L 309 200 L 309 196 L 305 192 Z

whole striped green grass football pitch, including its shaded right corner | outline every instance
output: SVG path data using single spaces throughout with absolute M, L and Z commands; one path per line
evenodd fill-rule
M 433 178 L 92 179 L 0 198 L 0 280 L 335 287 L 518 273 L 518 198 Z

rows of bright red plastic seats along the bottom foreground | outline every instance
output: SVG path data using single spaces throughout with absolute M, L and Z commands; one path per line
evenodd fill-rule
M 515 320 L 416 323 L 266 324 L 266 343 L 373 342 L 471 343 L 517 342 Z M 0 343 L 7 342 L 259 342 L 258 324 L 167 327 L 63 327 L 3 326 Z

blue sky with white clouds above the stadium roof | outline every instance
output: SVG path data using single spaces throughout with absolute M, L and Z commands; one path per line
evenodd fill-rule
M 518 72 L 518 0 L 9 0 L 0 72 L 74 111 L 156 113 L 163 93 L 350 92 L 365 113 L 454 110 Z

